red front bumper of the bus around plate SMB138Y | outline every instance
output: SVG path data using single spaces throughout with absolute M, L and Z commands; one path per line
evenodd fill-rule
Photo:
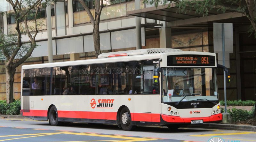
M 168 116 L 161 114 L 162 119 L 167 123 L 191 123 L 191 120 L 203 120 L 203 123 L 220 122 L 222 120 L 222 114 L 212 115 L 210 117 L 191 117 L 181 118 L 180 116 Z

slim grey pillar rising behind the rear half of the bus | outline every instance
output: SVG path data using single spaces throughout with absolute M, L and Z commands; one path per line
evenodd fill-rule
M 48 45 L 48 61 L 53 62 L 52 55 L 52 15 L 51 15 L 51 5 L 46 7 L 46 26 L 47 26 L 47 45 Z

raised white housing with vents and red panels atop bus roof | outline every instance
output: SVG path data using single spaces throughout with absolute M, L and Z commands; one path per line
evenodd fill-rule
M 127 51 L 117 51 L 102 53 L 98 58 L 108 58 L 108 57 L 118 57 L 118 56 L 132 56 L 132 55 L 143 55 L 143 54 L 155 54 L 155 53 L 166 53 L 166 52 L 182 52 L 180 49 L 171 48 L 152 48 L 152 49 L 138 49 L 138 50 L 127 50 Z

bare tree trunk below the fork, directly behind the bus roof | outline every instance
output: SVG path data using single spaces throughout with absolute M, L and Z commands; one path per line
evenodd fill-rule
M 96 58 L 98 58 L 98 56 L 101 54 L 101 52 L 100 52 L 100 32 L 99 32 L 100 24 L 97 24 L 97 23 L 100 23 L 99 21 L 100 20 L 98 20 L 98 19 L 95 20 L 95 25 L 93 27 L 93 32 L 92 32 Z

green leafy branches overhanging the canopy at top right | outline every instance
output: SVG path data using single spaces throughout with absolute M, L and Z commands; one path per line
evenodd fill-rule
M 256 2 L 255 0 L 144 0 L 144 3 L 154 4 L 168 4 L 172 3 L 178 8 L 177 12 L 186 12 L 195 10 L 198 14 L 207 16 L 212 9 L 225 12 L 226 10 L 232 12 L 243 13 L 250 20 L 251 26 L 249 32 L 254 33 L 256 37 Z

